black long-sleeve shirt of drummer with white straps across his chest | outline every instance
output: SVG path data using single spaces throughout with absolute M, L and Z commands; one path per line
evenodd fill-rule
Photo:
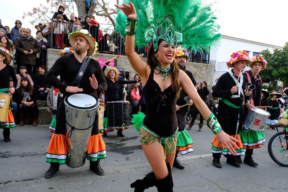
M 233 73 L 233 69 L 231 71 Z M 238 79 L 238 77 L 236 77 L 236 76 L 235 76 L 235 78 Z M 240 80 L 241 79 L 239 78 L 239 82 L 240 82 Z M 247 82 L 248 82 L 247 77 L 243 76 L 243 83 L 242 83 L 243 92 L 246 88 Z M 246 100 L 249 99 L 249 97 L 243 98 L 242 94 L 240 94 L 240 97 L 231 98 L 231 96 L 232 96 L 231 88 L 233 86 L 236 86 L 236 83 L 235 83 L 234 79 L 231 77 L 231 75 L 229 74 L 229 72 L 226 72 L 219 77 L 219 79 L 215 85 L 215 88 L 213 89 L 212 96 L 218 97 L 218 98 L 225 98 L 228 101 L 230 101 L 232 104 L 240 107 L 240 106 L 242 106 L 242 102 L 243 102 L 242 99 L 245 99 L 245 102 L 247 102 Z M 239 86 L 239 84 L 238 84 L 238 86 Z M 238 91 L 234 95 L 238 95 L 238 92 L 239 92 L 239 88 L 238 88 Z M 231 110 L 231 111 L 239 111 L 241 108 L 241 107 L 240 108 L 229 107 L 224 102 L 219 100 L 219 106 L 220 105 L 223 107 L 226 107 L 226 109 Z

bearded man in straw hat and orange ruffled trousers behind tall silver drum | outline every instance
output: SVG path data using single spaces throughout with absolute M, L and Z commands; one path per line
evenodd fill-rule
M 58 58 L 47 73 L 46 81 L 55 88 L 65 90 L 64 98 L 72 93 L 89 94 L 96 98 L 96 91 L 102 92 L 107 88 L 107 82 L 99 62 L 91 59 L 84 74 L 83 71 L 79 72 L 84 58 L 97 50 L 96 43 L 87 30 L 72 33 L 69 41 L 75 53 Z M 65 84 L 57 79 L 58 75 L 64 79 Z M 83 75 L 79 86 L 73 84 L 77 75 L 80 77 Z M 50 163 L 50 168 L 45 173 L 45 178 L 53 177 L 59 170 L 59 165 L 65 164 L 66 158 L 69 158 L 65 125 L 65 106 L 64 102 L 61 102 L 56 112 L 55 132 L 47 149 L 46 161 Z M 87 159 L 90 160 L 90 170 L 98 175 L 104 175 L 105 172 L 100 167 L 100 159 L 106 157 L 106 151 L 105 143 L 98 132 L 98 116 L 95 117 L 89 141 L 86 153 Z

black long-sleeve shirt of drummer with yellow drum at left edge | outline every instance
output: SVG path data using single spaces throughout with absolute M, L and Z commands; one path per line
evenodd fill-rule
M 10 77 L 13 79 L 13 87 L 16 88 L 18 81 L 14 68 L 9 64 L 6 64 L 6 66 L 0 71 L 0 89 L 9 88 Z

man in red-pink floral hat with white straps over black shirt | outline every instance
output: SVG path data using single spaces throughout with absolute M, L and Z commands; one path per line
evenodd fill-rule
M 246 65 L 250 64 L 250 62 L 247 52 L 238 51 L 233 53 L 230 62 L 227 62 L 228 68 L 233 67 L 233 69 L 219 77 L 212 92 L 213 97 L 219 98 L 218 122 L 224 132 L 239 141 L 236 144 L 240 149 L 235 149 L 236 155 L 244 155 L 243 145 L 238 134 L 239 130 L 242 128 L 244 104 L 251 109 L 251 104 L 246 101 L 251 94 L 251 92 L 245 92 L 247 78 L 239 72 L 240 70 L 244 71 Z M 238 78 L 239 75 L 240 77 Z M 215 167 L 222 168 L 222 165 L 220 164 L 221 154 L 224 154 L 227 158 L 226 162 L 228 164 L 240 167 L 240 164 L 225 146 L 222 151 L 216 137 L 213 138 L 211 143 L 214 157 L 212 162 Z

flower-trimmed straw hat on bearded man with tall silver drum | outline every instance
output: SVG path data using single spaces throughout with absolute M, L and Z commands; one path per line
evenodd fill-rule
M 75 50 L 74 43 L 75 43 L 76 37 L 78 36 L 84 37 L 85 39 L 87 39 L 88 43 L 90 44 L 90 48 L 87 51 L 88 56 L 94 55 L 95 52 L 98 50 L 97 48 L 98 43 L 96 42 L 96 39 L 94 39 L 94 37 L 92 37 L 92 35 L 88 32 L 88 30 L 81 29 L 80 31 L 74 31 L 72 33 L 67 33 L 67 34 L 69 35 L 69 42 L 73 50 Z

